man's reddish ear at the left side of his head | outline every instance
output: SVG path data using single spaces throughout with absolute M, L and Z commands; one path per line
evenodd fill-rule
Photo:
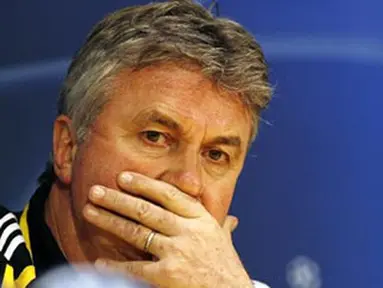
M 72 182 L 72 165 L 76 155 L 76 134 L 72 120 L 65 115 L 56 118 L 53 127 L 53 168 L 64 184 Z

